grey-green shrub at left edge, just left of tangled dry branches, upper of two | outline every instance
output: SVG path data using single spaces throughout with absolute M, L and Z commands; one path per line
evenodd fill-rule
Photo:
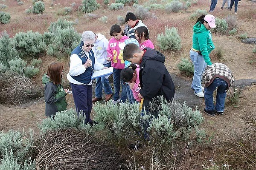
M 24 131 L 9 130 L 7 133 L 0 132 L 0 157 L 12 153 L 17 161 L 24 161 L 33 144 L 33 131 L 26 138 Z

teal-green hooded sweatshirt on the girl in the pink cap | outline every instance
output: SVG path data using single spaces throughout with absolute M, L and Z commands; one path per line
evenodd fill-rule
M 209 54 L 215 48 L 212 42 L 212 33 L 207 30 L 204 24 L 196 23 L 193 27 L 193 45 L 192 48 L 201 51 L 204 61 L 207 65 L 212 65 Z

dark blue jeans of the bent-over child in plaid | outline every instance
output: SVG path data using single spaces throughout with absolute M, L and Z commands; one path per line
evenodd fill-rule
M 224 79 L 215 78 L 211 85 L 209 85 L 207 88 L 204 88 L 204 102 L 207 111 L 224 111 L 227 86 L 227 82 L 225 82 Z M 214 107 L 212 94 L 216 88 L 216 105 Z

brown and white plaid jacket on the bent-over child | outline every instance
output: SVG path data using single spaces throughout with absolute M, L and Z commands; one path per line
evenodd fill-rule
M 203 79 L 205 80 L 205 87 L 208 87 L 215 78 L 224 79 L 230 85 L 234 83 L 233 75 L 227 65 L 222 63 L 214 63 L 212 65 L 207 65 L 203 73 Z

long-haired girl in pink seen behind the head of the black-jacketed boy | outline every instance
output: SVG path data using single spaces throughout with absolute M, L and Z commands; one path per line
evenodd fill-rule
M 148 28 L 141 26 L 136 28 L 135 37 L 140 44 L 140 49 L 143 50 L 145 47 L 153 48 L 154 44 L 149 40 Z

